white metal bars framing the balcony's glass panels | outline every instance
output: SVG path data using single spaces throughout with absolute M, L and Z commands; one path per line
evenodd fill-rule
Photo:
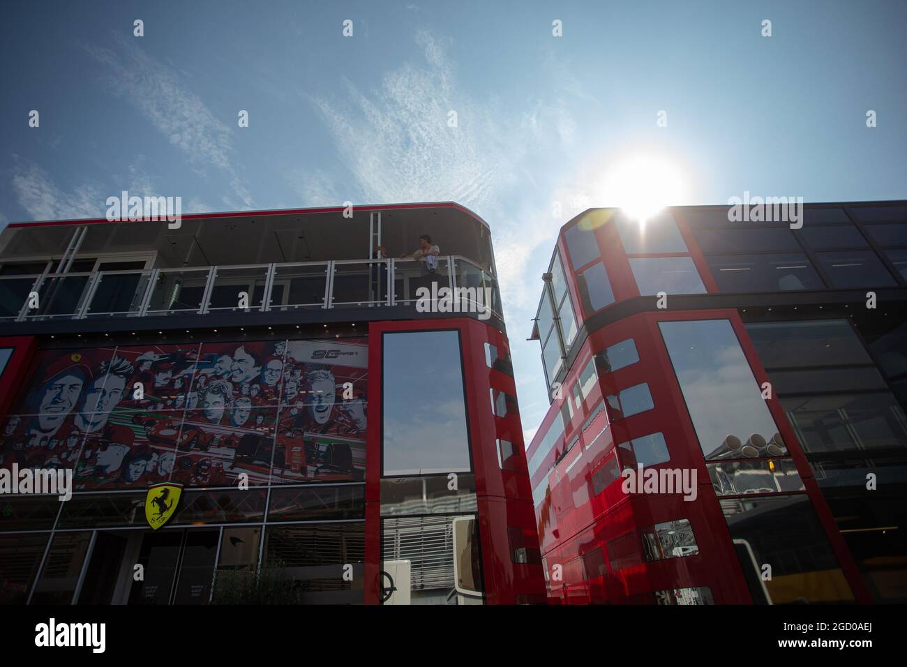
M 439 267 L 437 274 L 443 276 L 447 279 L 447 286 L 450 289 L 455 289 L 457 286 L 458 278 L 458 268 L 463 267 L 463 265 L 468 265 L 474 270 L 481 272 L 481 280 L 489 280 L 492 283 L 495 292 L 497 293 L 497 278 L 493 275 L 492 271 L 484 269 L 482 266 L 469 260 L 461 255 L 442 255 L 439 258 Z M 40 293 L 41 288 L 46 284 L 47 280 L 61 279 L 61 278 L 87 278 L 85 281 L 85 286 L 83 291 L 79 294 L 78 299 L 76 299 L 75 312 L 73 313 L 62 313 L 57 315 L 42 315 L 40 312 L 30 315 L 28 312 L 28 302 L 23 304 L 22 309 L 19 311 L 17 316 L 8 316 L 0 318 L 0 320 L 15 320 L 15 321 L 24 321 L 29 318 L 54 318 L 54 319 L 86 319 L 86 318 L 96 318 L 99 316 L 115 316 L 115 315 L 124 315 L 129 317 L 148 317 L 151 313 L 153 314 L 168 314 L 176 312 L 191 312 L 196 311 L 199 314 L 206 314 L 211 310 L 224 310 L 230 309 L 227 307 L 221 308 L 211 308 L 210 307 L 210 298 L 211 292 L 214 289 L 218 271 L 225 270 L 243 270 L 243 269 L 261 269 L 263 273 L 261 276 L 250 276 L 256 281 L 259 281 L 261 278 L 265 279 L 264 282 L 264 295 L 261 299 L 261 303 L 250 304 L 247 309 L 237 309 L 243 312 L 267 312 L 270 310 L 278 309 L 297 309 L 297 308 L 314 308 L 320 307 L 322 309 L 333 309 L 336 306 L 344 305 L 368 305 L 368 306 L 395 306 L 404 303 L 411 303 L 416 299 L 405 299 L 403 295 L 397 295 L 394 292 L 396 280 L 398 278 L 405 278 L 406 276 L 411 276 L 414 271 L 408 266 L 402 266 L 403 263 L 409 264 L 413 263 L 412 269 L 421 268 L 421 262 L 416 259 L 411 258 L 387 258 L 387 259 L 362 259 L 362 260 L 322 260 L 322 261 L 297 261 L 297 262 L 277 262 L 271 264 L 232 264 L 232 265 L 213 265 L 208 267 L 182 267 L 182 268 L 166 268 L 166 269 L 141 269 L 141 270 L 112 270 L 112 271 L 86 271 L 86 272 L 75 272 L 75 273 L 42 273 L 42 274 L 33 274 L 33 275 L 22 275 L 22 276 L 0 276 L 0 281 L 2 280 L 32 280 L 32 287 L 29 289 L 29 294 L 34 291 Z M 334 281 L 336 278 L 336 269 L 337 267 L 344 267 L 347 265 L 363 265 L 364 273 L 368 273 L 372 270 L 372 265 L 385 266 L 386 271 L 386 289 L 387 293 L 385 298 L 382 299 L 365 299 L 365 300 L 353 300 L 353 301 L 335 301 L 334 300 Z M 294 267 L 320 267 L 324 269 L 324 280 L 325 280 L 325 293 L 322 299 L 319 301 L 313 301 L 311 303 L 280 303 L 273 304 L 271 302 L 273 297 L 273 290 L 275 286 L 275 281 L 282 282 L 287 280 L 286 276 L 279 275 L 281 272 L 286 273 L 288 269 Z M 199 308 L 187 308 L 187 309 L 151 309 L 151 299 L 154 295 L 154 290 L 157 287 L 159 279 L 161 276 L 165 276 L 170 273 L 185 273 L 191 274 L 194 273 L 198 276 L 198 280 L 204 280 L 204 289 L 202 291 L 202 299 L 200 302 Z M 148 280 L 141 283 L 140 287 L 143 289 L 141 294 L 139 290 L 136 290 L 136 293 L 132 299 L 132 303 L 138 304 L 134 309 L 122 310 L 122 311 L 96 311 L 91 312 L 91 305 L 93 299 L 97 295 L 98 286 L 101 284 L 102 280 L 108 276 L 129 276 L 135 275 L 147 276 Z M 316 276 L 313 276 L 315 278 Z M 498 295 L 499 296 L 499 295 Z M 234 309 L 236 310 L 236 309 Z M 496 315 L 500 316 L 500 308 L 493 308 L 493 312 Z

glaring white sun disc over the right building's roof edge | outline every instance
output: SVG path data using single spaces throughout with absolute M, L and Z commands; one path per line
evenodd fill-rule
M 658 155 L 638 154 L 619 160 L 602 182 L 603 204 L 622 209 L 640 224 L 666 206 L 682 203 L 686 195 L 682 173 Z

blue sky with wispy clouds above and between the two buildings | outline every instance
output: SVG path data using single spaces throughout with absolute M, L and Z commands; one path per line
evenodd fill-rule
M 665 157 L 677 203 L 907 198 L 904 25 L 898 0 L 5 2 L 0 228 L 124 189 L 184 212 L 459 201 L 493 230 L 528 436 L 541 273 L 578 202 L 613 203 L 609 166 Z

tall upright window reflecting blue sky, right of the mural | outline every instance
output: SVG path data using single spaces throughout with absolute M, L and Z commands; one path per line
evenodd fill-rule
M 470 470 L 460 336 L 384 334 L 385 475 Z

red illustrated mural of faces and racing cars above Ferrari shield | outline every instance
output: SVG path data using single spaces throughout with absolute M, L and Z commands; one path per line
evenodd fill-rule
M 361 481 L 367 372 L 364 338 L 40 350 L 0 466 L 77 490 Z

